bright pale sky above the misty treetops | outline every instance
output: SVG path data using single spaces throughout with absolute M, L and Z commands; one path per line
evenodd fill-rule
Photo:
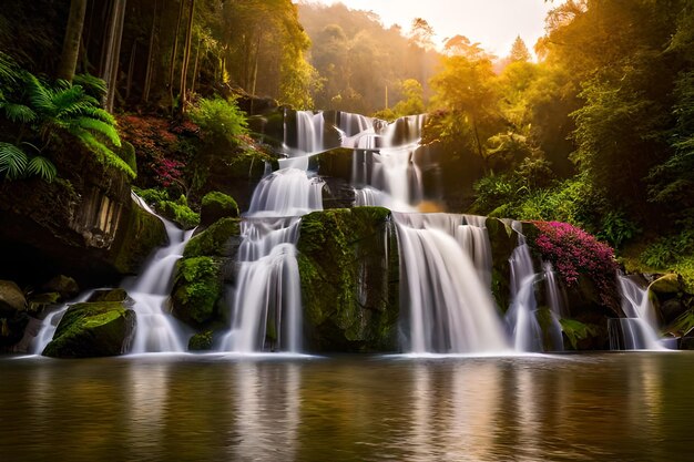
M 400 24 L 409 31 L 412 19 L 423 18 L 436 32 L 440 48 L 443 39 L 457 34 L 497 57 L 506 57 L 520 35 L 532 52 L 544 34 L 544 17 L 555 4 L 545 0 L 310 0 L 317 3 L 345 3 L 353 10 L 377 13 L 386 28 Z

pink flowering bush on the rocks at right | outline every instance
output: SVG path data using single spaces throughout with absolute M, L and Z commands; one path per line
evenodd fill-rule
M 568 223 L 534 222 L 539 235 L 535 248 L 544 260 L 551 261 L 568 287 L 575 285 L 579 276 L 592 279 L 605 305 L 612 305 L 615 289 L 616 261 L 614 250 Z

